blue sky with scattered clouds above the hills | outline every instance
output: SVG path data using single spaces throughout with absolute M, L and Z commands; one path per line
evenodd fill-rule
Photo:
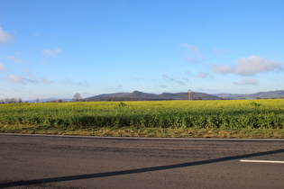
M 284 90 L 282 0 L 0 0 L 0 99 Z

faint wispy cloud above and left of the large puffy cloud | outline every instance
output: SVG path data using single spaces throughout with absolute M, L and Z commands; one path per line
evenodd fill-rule
M 186 57 L 184 59 L 187 62 L 197 64 L 204 59 L 200 49 L 196 46 L 189 45 L 188 43 L 182 43 L 180 46 L 186 49 Z

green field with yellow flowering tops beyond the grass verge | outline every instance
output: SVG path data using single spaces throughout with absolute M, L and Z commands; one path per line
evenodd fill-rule
M 1 132 L 20 126 L 22 130 L 283 130 L 284 100 L 9 103 L 0 104 L 0 115 Z

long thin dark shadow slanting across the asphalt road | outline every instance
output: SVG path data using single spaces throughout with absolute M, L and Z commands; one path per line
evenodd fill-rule
M 277 150 L 272 150 L 272 151 L 258 152 L 258 153 L 233 156 L 233 157 L 220 157 L 220 158 L 215 158 L 215 159 L 188 162 L 188 163 L 175 164 L 175 165 L 169 165 L 169 166 L 152 166 L 152 167 L 146 167 L 146 168 L 137 168 L 137 169 L 130 169 L 130 170 L 87 174 L 87 175 L 69 175 L 69 176 L 42 178 L 42 179 L 34 179 L 34 180 L 15 181 L 15 182 L 10 182 L 10 183 L 2 183 L 0 184 L 0 188 L 32 185 L 32 184 L 46 184 L 46 183 L 55 183 L 55 182 L 63 182 L 63 181 L 73 181 L 73 180 L 99 178 L 99 177 L 114 176 L 114 175 L 138 174 L 138 173 L 160 171 L 160 170 L 166 170 L 166 169 L 172 169 L 172 168 L 181 168 L 181 167 L 187 167 L 187 166 L 206 165 L 206 164 L 212 164 L 212 163 L 229 161 L 229 160 L 240 159 L 240 158 L 247 158 L 247 157 L 259 157 L 259 156 L 265 156 L 265 155 L 271 155 L 271 154 L 279 154 L 283 152 L 284 152 L 284 149 L 277 149 Z

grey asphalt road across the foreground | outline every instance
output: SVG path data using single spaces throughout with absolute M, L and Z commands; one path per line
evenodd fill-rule
M 284 188 L 284 140 L 0 134 L 0 188 Z

